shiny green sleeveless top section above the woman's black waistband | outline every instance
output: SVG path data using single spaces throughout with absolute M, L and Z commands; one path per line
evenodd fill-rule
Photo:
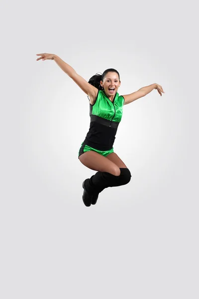
M 116 93 L 114 102 L 112 103 L 104 91 L 99 90 L 96 103 L 92 105 L 92 115 L 97 115 L 109 121 L 120 122 L 123 113 L 123 104 L 124 98 L 119 96 L 118 93 Z

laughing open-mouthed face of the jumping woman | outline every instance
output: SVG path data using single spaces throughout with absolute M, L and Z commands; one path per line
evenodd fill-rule
M 100 82 L 100 85 L 103 87 L 106 95 L 113 96 L 116 94 L 121 82 L 119 81 L 119 76 L 115 72 L 108 72 L 103 81 Z

